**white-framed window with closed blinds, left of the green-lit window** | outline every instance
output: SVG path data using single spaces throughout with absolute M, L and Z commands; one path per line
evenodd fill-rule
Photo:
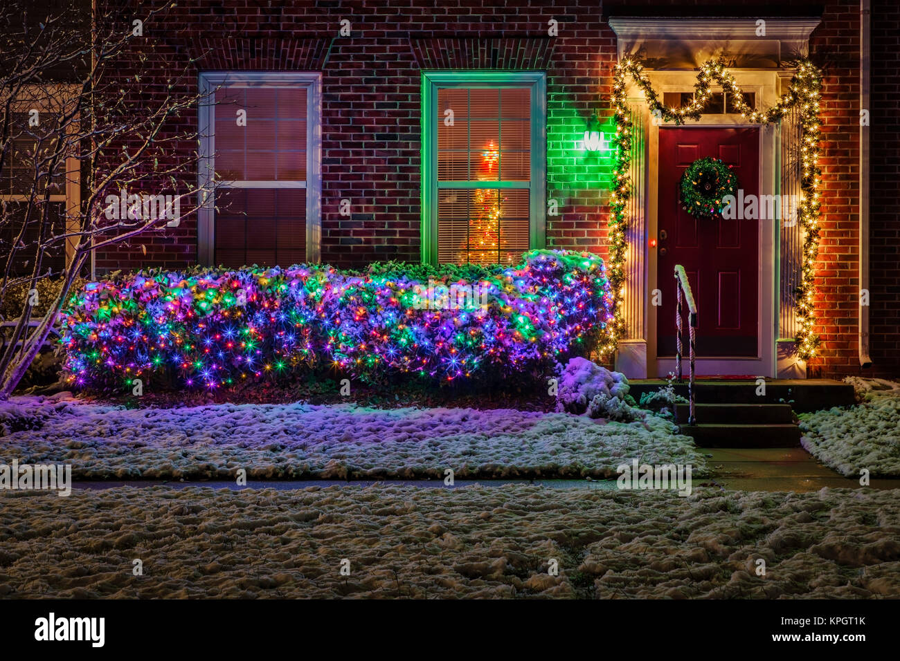
M 200 88 L 198 261 L 319 262 L 321 74 L 210 72 Z

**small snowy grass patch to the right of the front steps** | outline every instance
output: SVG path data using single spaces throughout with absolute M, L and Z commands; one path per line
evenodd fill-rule
M 800 415 L 803 447 L 844 477 L 900 478 L 900 383 L 848 382 L 862 403 Z

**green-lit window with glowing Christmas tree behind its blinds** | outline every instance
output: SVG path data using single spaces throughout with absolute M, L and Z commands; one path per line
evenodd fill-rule
M 545 246 L 544 72 L 422 72 L 422 261 L 517 264 Z

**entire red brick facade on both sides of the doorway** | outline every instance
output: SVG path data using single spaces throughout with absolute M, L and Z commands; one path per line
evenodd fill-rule
M 270 6 L 274 5 L 274 6 Z M 283 6 L 284 5 L 284 6 Z M 608 15 L 818 15 L 811 57 L 824 69 L 823 217 L 817 278 L 823 376 L 859 374 L 859 2 L 819 5 L 628 0 L 180 0 L 164 25 L 148 25 L 172 58 L 198 58 L 198 71 L 320 70 L 322 79 L 321 257 L 340 266 L 374 260 L 419 260 L 420 83 L 423 67 L 545 69 L 547 72 L 547 196 L 559 215 L 547 219 L 547 246 L 600 255 L 608 186 L 572 185 L 585 165 L 563 142 L 598 112 L 610 115 L 608 94 L 616 37 Z M 876 2 L 873 17 L 872 108 L 872 358 L 869 374 L 896 374 L 900 353 L 900 266 L 896 178 L 900 138 L 895 115 L 900 30 L 896 4 Z M 339 37 L 343 19 L 350 37 Z M 548 22 L 558 22 L 558 36 Z M 884 56 L 878 53 L 884 51 Z M 879 59 L 881 58 L 881 59 Z M 125 72 L 122 72 L 123 75 Z M 564 115 L 572 114 L 571 121 Z M 554 117 L 556 121 L 554 121 Z M 190 121 L 190 118 L 184 118 Z M 583 129 L 581 129 L 583 130 Z M 598 166 L 598 181 L 609 166 Z M 604 167 L 606 168 L 604 170 Z M 338 213 L 342 199 L 352 215 Z M 139 246 L 96 255 L 98 271 L 138 266 L 182 267 L 196 259 L 196 222 L 142 239 Z

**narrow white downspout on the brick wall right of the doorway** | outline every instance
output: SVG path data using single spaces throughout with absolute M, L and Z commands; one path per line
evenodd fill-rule
M 870 0 L 860 0 L 860 110 L 869 114 Z M 861 113 L 860 113 L 861 118 Z M 861 305 L 862 290 L 869 291 L 869 121 L 860 121 L 860 366 L 871 367 L 869 358 L 869 296 Z M 865 124 L 865 125 L 864 125 Z

